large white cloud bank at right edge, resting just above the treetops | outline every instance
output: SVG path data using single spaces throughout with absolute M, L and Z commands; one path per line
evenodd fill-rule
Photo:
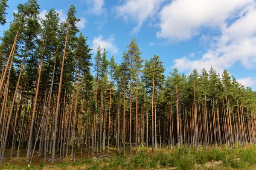
M 210 49 L 203 54 L 201 59 L 192 60 L 189 57 L 182 57 L 174 60 L 173 67 L 177 67 L 180 71 L 191 72 L 193 69 L 201 71 L 203 68 L 209 71 L 212 66 L 218 73 L 222 73 L 223 69 L 231 68 L 235 62 L 241 62 L 245 68 L 255 67 L 256 3 L 243 6 L 233 13 L 233 17 L 226 16 L 225 21 L 216 30 L 220 31 L 221 35 L 210 37 L 212 40 L 209 45 Z M 216 17 L 218 17 L 217 14 Z M 212 20 L 214 21 L 215 19 Z M 191 35 L 188 34 L 188 37 Z

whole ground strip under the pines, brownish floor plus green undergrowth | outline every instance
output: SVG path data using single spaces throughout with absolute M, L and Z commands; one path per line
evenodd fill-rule
M 106 147 L 100 156 L 96 156 L 96 153 L 94 156 L 88 156 L 85 149 L 81 156 L 81 148 L 75 148 L 75 160 L 71 160 L 70 156 L 58 159 L 59 153 L 56 153 L 54 164 L 50 162 L 50 154 L 47 154 L 47 159 L 44 160 L 44 156 L 38 157 L 36 151 L 32 164 L 29 164 L 26 163 L 26 149 L 20 150 L 19 158 L 16 157 L 16 150 L 12 158 L 9 157 L 10 152 L 11 149 L 6 148 L 6 159 L 4 163 L 0 163 L 0 170 L 256 170 L 254 145 L 235 149 L 225 146 L 212 147 L 209 150 L 203 147 L 196 150 L 183 146 L 175 147 L 173 150 L 157 149 L 154 155 L 151 154 L 151 148 L 147 153 L 145 147 L 140 147 L 136 154 L 136 148 L 133 147 L 132 156 L 118 154 L 113 146 L 110 147 L 109 153 Z M 128 144 L 125 153 L 129 154 Z

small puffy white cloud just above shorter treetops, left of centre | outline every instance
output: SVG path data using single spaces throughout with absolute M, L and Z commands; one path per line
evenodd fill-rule
M 98 45 L 100 45 L 101 48 L 105 48 L 106 51 L 110 51 L 112 54 L 116 54 L 119 50 L 116 47 L 116 44 L 114 43 L 113 35 L 111 35 L 107 39 L 104 39 L 104 37 L 102 37 L 102 35 L 99 35 L 99 37 L 94 37 L 93 44 L 92 44 L 93 52 L 97 51 Z

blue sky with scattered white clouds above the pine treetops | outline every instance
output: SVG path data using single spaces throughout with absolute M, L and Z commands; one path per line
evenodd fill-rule
M 8 22 L 18 3 L 9 0 Z M 242 85 L 256 90 L 255 0 L 38 0 L 40 16 L 50 8 L 64 20 L 71 4 L 76 6 L 80 31 L 88 44 L 106 48 L 107 57 L 122 58 L 132 37 L 143 59 L 157 54 L 166 75 L 177 67 L 190 74 L 212 66 L 227 69 Z M 0 26 L 6 30 L 9 23 Z

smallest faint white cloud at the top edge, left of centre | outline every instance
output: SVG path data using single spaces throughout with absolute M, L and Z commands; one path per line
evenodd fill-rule
M 89 10 L 95 15 L 102 15 L 106 12 L 104 6 L 104 0 L 85 0 L 89 4 Z

